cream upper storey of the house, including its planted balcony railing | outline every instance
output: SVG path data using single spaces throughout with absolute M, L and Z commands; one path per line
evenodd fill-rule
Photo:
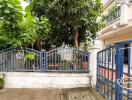
M 132 40 L 132 0 L 102 0 L 103 21 L 97 32 L 101 49 L 121 41 Z

